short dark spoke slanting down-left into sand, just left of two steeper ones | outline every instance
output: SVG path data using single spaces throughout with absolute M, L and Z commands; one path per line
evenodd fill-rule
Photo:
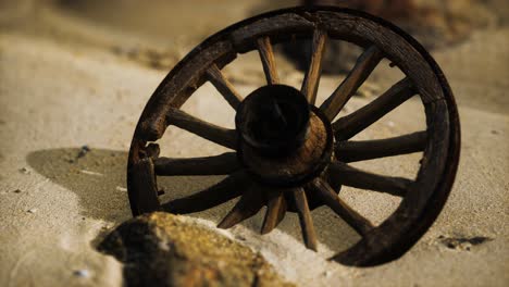
M 258 185 L 251 185 L 249 189 L 238 200 L 237 204 L 226 214 L 226 216 L 218 224 L 219 228 L 229 228 L 237 223 L 240 223 L 252 215 L 263 207 L 264 198 L 262 190 Z

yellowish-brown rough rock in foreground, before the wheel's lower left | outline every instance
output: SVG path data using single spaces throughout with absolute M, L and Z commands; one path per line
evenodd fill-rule
M 163 212 L 123 223 L 98 249 L 124 263 L 127 286 L 291 286 L 248 247 Z

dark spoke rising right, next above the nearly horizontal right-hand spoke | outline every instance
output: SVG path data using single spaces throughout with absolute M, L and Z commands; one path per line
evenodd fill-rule
M 337 120 L 333 124 L 336 139 L 345 140 L 353 137 L 415 93 L 417 90 L 409 78 L 398 82 L 371 103 Z

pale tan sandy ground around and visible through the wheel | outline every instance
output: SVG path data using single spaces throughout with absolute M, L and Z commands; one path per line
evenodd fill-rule
M 161 40 L 163 32 L 139 36 L 146 35 L 139 27 L 128 34 L 119 28 L 115 18 L 99 21 L 98 13 L 76 15 L 74 8 L 69 8 L 70 12 L 51 5 L 34 9 L 30 1 L 21 1 L 12 9 L 9 2 L 12 1 L 2 3 L 7 8 L 0 17 L 0 286 L 120 285 L 121 264 L 97 252 L 95 244 L 98 235 L 131 216 L 125 189 L 126 152 L 141 109 L 167 73 L 153 68 L 153 59 L 145 59 L 142 51 L 160 45 L 173 47 L 157 58 L 172 64 L 202 35 L 259 8 L 254 1 L 252 5 L 248 1 L 241 9 L 225 10 L 227 16 L 221 20 L 225 23 L 220 21 L 220 26 L 191 30 L 198 34 L 196 38 L 169 29 L 169 38 Z M 231 7 L 228 1 L 221 4 Z M 94 11 L 95 7 L 90 4 L 88 9 L 85 11 Z M 198 12 L 206 13 L 207 9 Z M 97 18 L 87 21 L 90 14 Z M 150 25 L 145 28 L 153 30 Z M 138 51 L 136 55 L 123 50 L 133 47 Z M 507 47 L 509 28 L 502 27 L 476 32 L 461 45 L 434 52 L 458 100 L 462 158 L 443 213 L 401 259 L 370 269 L 327 262 L 326 258 L 358 237 L 326 209 L 313 211 L 321 242 L 318 253 L 301 245 L 295 215 L 266 236 L 257 233 L 260 214 L 223 234 L 260 251 L 284 277 L 300 286 L 507 286 Z M 298 86 L 301 74 L 283 59 L 277 60 L 284 80 Z M 256 54 L 243 57 L 227 72 L 244 95 L 261 83 Z M 383 91 L 398 76 L 376 71 L 367 83 L 371 88 L 362 89 L 370 91 L 367 93 Z M 319 98 L 323 100 L 339 82 L 340 76 L 324 78 Z M 347 112 L 371 99 L 353 99 Z M 211 122 L 233 125 L 233 111 L 210 85 L 200 88 L 184 109 Z M 421 105 L 411 100 L 360 138 L 419 130 L 423 121 Z M 182 130 L 169 133 L 173 140 L 162 142 L 165 154 L 191 157 L 222 151 Z M 91 151 L 78 158 L 84 145 Z M 411 177 L 419 155 L 358 166 Z M 167 178 L 162 183 L 167 191 L 164 199 L 199 190 L 219 179 Z M 390 196 L 352 188 L 345 188 L 342 197 L 376 223 L 398 203 Z M 226 203 L 193 217 L 212 228 L 231 205 Z M 472 237 L 485 240 L 479 245 L 447 246 L 451 238 Z

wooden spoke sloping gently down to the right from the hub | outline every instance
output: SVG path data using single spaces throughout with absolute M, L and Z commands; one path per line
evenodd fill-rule
M 331 175 L 342 185 L 386 192 L 393 196 L 405 197 L 409 186 L 413 183 L 402 177 L 390 177 L 368 173 L 346 163 L 335 162 L 328 167 Z

